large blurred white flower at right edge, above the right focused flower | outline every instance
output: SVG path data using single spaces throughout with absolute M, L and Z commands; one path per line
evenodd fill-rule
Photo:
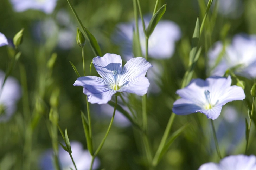
M 208 52 L 210 74 L 223 76 L 228 69 L 234 69 L 235 73 L 247 78 L 256 78 L 256 36 L 246 34 L 236 35 L 232 44 L 226 46 L 223 55 L 223 44 L 215 43 Z M 218 58 L 221 57 L 219 63 Z M 217 63 L 217 66 L 215 67 Z

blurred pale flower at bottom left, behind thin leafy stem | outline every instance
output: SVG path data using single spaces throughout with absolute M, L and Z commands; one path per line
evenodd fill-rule
M 76 163 L 78 170 L 89 170 L 91 165 L 91 155 L 88 150 L 83 149 L 83 145 L 80 142 L 71 141 L 72 157 Z M 47 150 L 41 159 L 41 168 L 43 170 L 54 170 L 52 164 L 52 149 Z M 63 148 L 59 147 L 59 162 L 63 170 L 70 170 L 70 168 L 75 169 L 70 155 Z M 97 169 L 100 166 L 100 161 L 98 158 L 94 160 L 92 169 Z

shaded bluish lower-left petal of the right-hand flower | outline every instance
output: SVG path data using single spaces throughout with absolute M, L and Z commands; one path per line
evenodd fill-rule
M 178 99 L 173 103 L 172 111 L 176 115 L 188 115 L 198 112 L 202 108 L 186 99 Z

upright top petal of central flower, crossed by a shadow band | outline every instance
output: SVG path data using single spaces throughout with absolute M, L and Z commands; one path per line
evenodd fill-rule
M 113 71 L 117 71 L 117 80 L 122 71 L 122 59 L 120 55 L 116 54 L 105 54 L 103 57 L 93 58 L 92 63 L 100 76 L 107 80 L 109 84 L 114 83 Z

